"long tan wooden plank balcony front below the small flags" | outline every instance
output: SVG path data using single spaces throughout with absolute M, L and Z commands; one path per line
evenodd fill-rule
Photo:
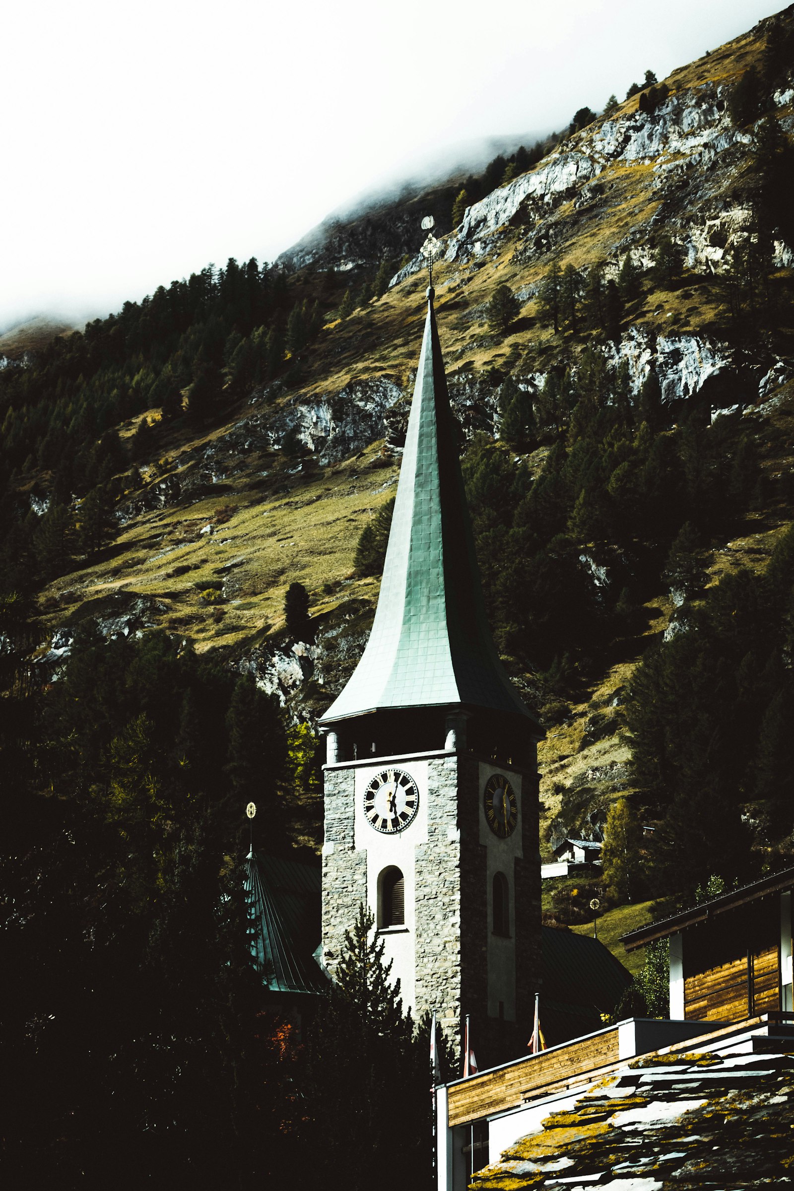
M 518 1108 L 530 1092 L 593 1071 L 620 1058 L 618 1029 L 574 1040 L 520 1062 L 486 1071 L 449 1087 L 449 1123 L 465 1124 L 490 1112 Z

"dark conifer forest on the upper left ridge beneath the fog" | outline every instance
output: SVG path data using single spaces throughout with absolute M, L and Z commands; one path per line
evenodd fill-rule
M 231 258 L 0 369 L 4 590 L 31 590 L 101 549 L 163 429 L 200 429 L 279 376 L 333 301 L 333 279 L 314 282 L 290 293 L 280 269 Z M 161 420 L 140 418 L 123 444 L 118 424 L 152 407 Z

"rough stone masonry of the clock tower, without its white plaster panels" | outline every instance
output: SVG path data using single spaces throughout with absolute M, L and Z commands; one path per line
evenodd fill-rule
M 436 1010 L 458 1054 L 471 1017 L 480 1067 L 526 1053 L 540 991 L 540 862 L 537 773 L 523 774 L 524 859 L 515 860 L 517 1022 L 488 1017 L 487 849 L 480 843 L 480 761 L 471 754 L 429 761 L 427 841 L 417 846 L 414 1019 Z M 323 956 L 333 972 L 345 931 L 367 904 L 367 852 L 354 848 L 355 769 L 325 772 Z

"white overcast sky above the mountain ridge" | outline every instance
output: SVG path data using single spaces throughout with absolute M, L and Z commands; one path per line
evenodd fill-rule
M 2 19 L 0 329 L 273 260 L 451 145 L 550 131 L 774 0 L 38 0 Z

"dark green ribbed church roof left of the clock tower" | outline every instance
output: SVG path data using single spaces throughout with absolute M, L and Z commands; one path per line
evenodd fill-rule
M 324 992 L 327 981 L 312 954 L 320 942 L 320 869 L 251 852 L 245 896 L 263 985 L 281 993 Z

